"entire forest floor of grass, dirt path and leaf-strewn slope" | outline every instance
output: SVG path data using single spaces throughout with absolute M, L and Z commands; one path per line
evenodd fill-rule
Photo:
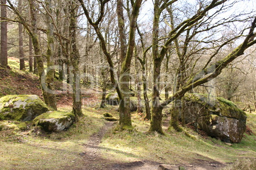
M 15 58 L 11 70 L 0 68 L 0 97 L 35 94 L 41 98 L 38 77 L 19 71 Z M 71 111 L 69 88 L 57 82 L 58 109 Z M 65 88 L 64 88 L 65 87 Z M 187 127 L 184 132 L 167 130 L 165 135 L 147 133 L 150 122 L 132 113 L 132 131 L 118 131 L 117 122 L 104 120 L 108 112 L 118 118 L 116 106 L 99 108 L 98 88 L 83 89 L 80 121 L 61 133 L 18 121 L 0 121 L 0 169 L 252 169 L 256 167 L 256 113 L 247 114 L 247 133 L 241 143 L 224 143 Z M 253 165 L 254 164 L 254 165 Z

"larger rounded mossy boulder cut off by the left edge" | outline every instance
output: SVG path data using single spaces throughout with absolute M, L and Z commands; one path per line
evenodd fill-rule
M 0 98 L 0 120 L 32 121 L 48 110 L 37 95 L 7 95 Z

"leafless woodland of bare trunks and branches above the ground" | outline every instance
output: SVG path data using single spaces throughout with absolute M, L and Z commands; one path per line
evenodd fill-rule
M 25 56 L 36 58 L 50 107 L 57 108 L 55 95 L 45 90 L 54 91 L 54 72 L 45 73 L 43 62 L 57 65 L 55 76 L 73 85 L 78 117 L 80 82 L 100 85 L 103 100 L 111 84 L 120 99 L 121 128 L 132 126 L 133 89 L 139 101 L 143 98 L 150 131 L 162 133 L 162 109 L 182 101 L 187 92 L 255 101 L 255 5 L 253 0 L 2 0 L 1 11 L 7 7 L 8 16 L 1 16 L 1 24 L 8 22 L 9 32 L 17 29 L 17 22 L 26 30 L 19 39 L 27 44 Z M 8 35 L 9 55 L 21 53 L 17 42 L 17 36 Z M 34 54 L 29 54 L 29 44 Z M 6 65 L 3 57 L 1 65 Z M 171 125 L 178 129 L 175 113 Z

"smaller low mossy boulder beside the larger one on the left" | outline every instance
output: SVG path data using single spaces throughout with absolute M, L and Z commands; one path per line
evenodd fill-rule
M 33 123 L 46 132 L 60 132 L 68 129 L 74 120 L 75 115 L 71 112 L 49 111 L 36 117 Z

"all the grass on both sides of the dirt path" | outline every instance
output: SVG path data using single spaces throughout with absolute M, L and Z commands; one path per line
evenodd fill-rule
M 12 60 L 12 59 L 11 59 Z M 11 62 L 11 60 L 9 60 Z M 10 67 L 18 68 L 11 63 Z M 13 70 L 10 74 L 25 74 Z M 21 76 L 22 78 L 22 76 Z M 22 79 L 18 79 L 22 81 Z M 0 81 L 5 90 L 2 95 L 18 93 L 11 87 L 13 81 L 5 78 Z M 20 85 L 20 84 L 19 84 Z M 6 88 L 8 86 L 8 88 Z M 10 86 L 10 88 L 9 88 Z M 26 89 L 26 87 L 25 87 Z M 34 90 L 33 90 L 34 91 Z M 2 93 L 2 92 L 0 92 Z M 0 94 L 1 96 L 1 94 Z M 164 96 L 161 96 L 164 98 Z M 136 97 L 131 98 L 136 100 Z M 59 111 L 70 112 L 71 106 L 61 107 Z M 0 121 L 0 169 L 82 169 L 87 165 L 79 154 L 84 151 L 84 144 L 89 136 L 99 131 L 104 125 L 103 114 L 108 112 L 118 117 L 116 107 L 83 107 L 84 116 L 61 133 L 43 133 L 31 122 Z M 256 133 L 256 113 L 247 114 L 247 125 Z M 166 118 L 165 118 L 166 119 Z M 165 164 L 192 164 L 195 162 L 219 161 L 234 164 L 225 169 L 255 169 L 256 136 L 245 134 L 241 143 L 227 145 L 215 138 L 203 138 L 191 129 L 185 132 L 167 131 L 164 136 L 147 133 L 150 122 L 144 121 L 138 114 L 132 114 L 132 131 L 116 131 L 115 128 L 104 136 L 100 143 L 101 155 L 114 162 L 132 162 L 152 160 Z M 29 128 L 27 128 L 29 127 Z

